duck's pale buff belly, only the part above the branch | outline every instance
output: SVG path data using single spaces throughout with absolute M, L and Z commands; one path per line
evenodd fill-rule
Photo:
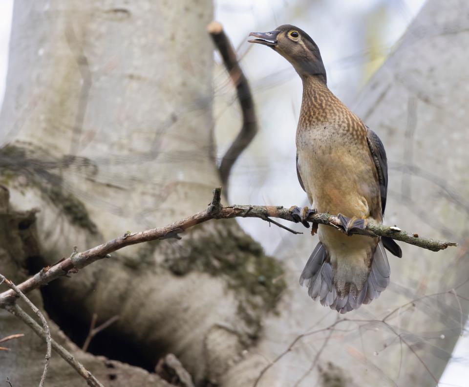
M 379 191 L 367 144 L 360 147 L 351 134 L 321 126 L 299 132 L 297 149 L 298 170 L 317 211 L 370 216 Z

